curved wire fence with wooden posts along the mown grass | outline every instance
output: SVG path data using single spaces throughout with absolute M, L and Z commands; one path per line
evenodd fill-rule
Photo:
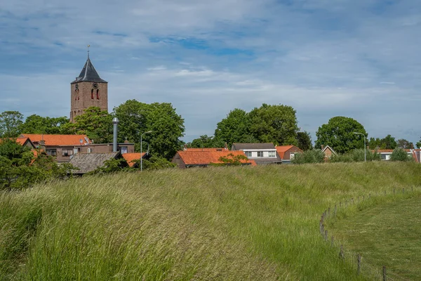
M 411 187 L 408 191 L 405 188 L 402 189 L 393 189 L 393 193 L 389 193 L 389 195 L 399 195 L 399 194 L 405 194 L 406 192 L 413 192 L 414 187 Z M 355 267 L 355 271 L 357 275 L 363 275 L 366 277 L 369 277 L 371 280 L 382 280 L 382 281 L 394 281 L 394 280 L 406 280 L 405 278 L 396 275 L 395 273 L 390 272 L 387 270 L 386 266 L 378 267 L 373 266 L 373 262 L 370 262 L 370 260 L 364 258 L 361 256 L 361 254 L 356 254 L 353 251 L 347 251 L 345 250 L 343 244 L 335 240 L 335 237 L 333 235 L 329 236 L 328 230 L 325 228 L 325 222 L 328 218 L 334 218 L 336 217 L 336 214 L 340 209 L 347 208 L 348 205 L 352 204 L 358 204 L 360 202 L 363 202 L 363 200 L 371 200 L 372 197 L 375 196 L 386 196 L 387 192 L 384 190 L 383 192 L 372 194 L 368 193 L 368 195 L 362 195 L 356 198 L 351 198 L 351 200 L 345 200 L 345 202 L 339 202 L 339 204 L 335 204 L 334 207 L 328 207 L 325 211 L 323 211 L 323 214 L 321 214 L 320 222 L 319 222 L 319 228 L 320 228 L 320 234 L 323 237 L 323 240 L 326 241 L 326 243 L 330 244 L 330 247 L 335 247 L 338 249 L 338 258 L 342 259 L 343 261 L 349 262 L 349 264 L 352 264 Z

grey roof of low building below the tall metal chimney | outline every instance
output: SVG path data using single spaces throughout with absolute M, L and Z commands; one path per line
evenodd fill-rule
M 95 171 L 98 167 L 104 165 L 104 162 L 109 159 L 116 159 L 120 152 L 98 152 L 98 153 L 76 153 L 70 159 L 70 164 L 79 168 L 73 171 L 73 174 L 86 174 L 90 171 Z

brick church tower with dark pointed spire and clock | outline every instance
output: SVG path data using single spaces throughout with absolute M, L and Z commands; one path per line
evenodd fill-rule
M 108 82 L 96 72 L 88 53 L 81 74 L 70 83 L 70 122 L 91 106 L 108 111 Z

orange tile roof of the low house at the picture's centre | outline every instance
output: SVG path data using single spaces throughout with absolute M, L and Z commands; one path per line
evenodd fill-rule
M 229 157 L 228 155 L 232 154 L 236 155 L 243 155 L 243 151 L 179 151 L 177 152 L 180 155 L 180 158 L 186 165 L 207 165 L 210 163 L 214 164 L 222 164 L 223 162 L 220 161 L 220 157 Z M 240 160 L 241 163 L 252 163 L 249 159 Z

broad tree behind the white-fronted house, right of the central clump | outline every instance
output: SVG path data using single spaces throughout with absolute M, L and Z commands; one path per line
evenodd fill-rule
M 297 145 L 298 122 L 288 105 L 267 105 L 248 113 L 250 133 L 262 143 Z

